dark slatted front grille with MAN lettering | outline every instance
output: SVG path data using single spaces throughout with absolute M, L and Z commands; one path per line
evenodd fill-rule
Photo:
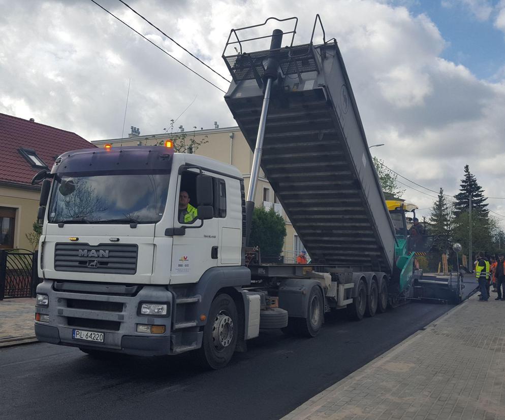
M 138 246 L 136 244 L 58 242 L 54 248 L 56 271 L 77 271 L 107 274 L 135 274 Z

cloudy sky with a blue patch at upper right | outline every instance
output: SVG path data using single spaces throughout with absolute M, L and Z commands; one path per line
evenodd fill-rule
M 119 1 L 96 1 L 227 90 Z M 298 16 L 295 44 L 303 44 L 319 13 L 327 38 L 338 41 L 369 145 L 385 144 L 371 149 L 377 157 L 448 194 L 458 192 L 468 163 L 488 196 L 505 197 L 505 0 L 126 3 L 226 78 L 221 54 L 231 28 Z M 89 0 L 0 0 L 0 10 L 2 113 L 88 140 L 117 138 L 131 83 L 124 135 L 132 125 L 161 133 L 177 118 L 186 130 L 236 125 L 223 92 Z M 408 185 L 404 198 L 428 215 L 435 194 L 399 181 Z M 505 226 L 505 199 L 489 204 Z

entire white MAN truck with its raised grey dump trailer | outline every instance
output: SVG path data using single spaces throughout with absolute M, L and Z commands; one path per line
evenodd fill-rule
M 411 288 L 414 254 L 395 232 L 337 43 L 314 45 L 312 32 L 293 45 L 298 20 L 287 20 L 292 31 L 252 53 L 240 33 L 267 22 L 233 29 L 223 54 L 225 101 L 254 150 L 247 194 L 237 168 L 171 142 L 72 151 L 37 174 L 38 340 L 94 356 L 195 351 L 217 369 L 260 330 L 313 337 L 328 312 L 373 317 Z M 263 264 L 247 247 L 260 165 L 310 264 Z M 198 210 L 191 223 L 177 217 L 180 191 Z

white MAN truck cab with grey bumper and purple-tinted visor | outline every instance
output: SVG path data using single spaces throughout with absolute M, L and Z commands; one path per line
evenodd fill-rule
M 201 346 L 212 300 L 230 287 L 227 296 L 241 308 L 253 302 L 259 317 L 259 297 L 237 289 L 250 284 L 237 168 L 146 146 L 66 153 L 46 176 L 39 340 L 88 353 L 181 353 Z M 181 191 L 198 210 L 191 222 L 179 218 Z

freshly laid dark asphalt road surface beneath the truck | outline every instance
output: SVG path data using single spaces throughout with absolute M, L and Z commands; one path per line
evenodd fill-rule
M 262 333 L 210 372 L 191 353 L 101 361 L 47 343 L 6 348 L 0 418 L 278 419 L 451 307 L 409 303 L 361 322 L 339 311 L 316 338 Z

